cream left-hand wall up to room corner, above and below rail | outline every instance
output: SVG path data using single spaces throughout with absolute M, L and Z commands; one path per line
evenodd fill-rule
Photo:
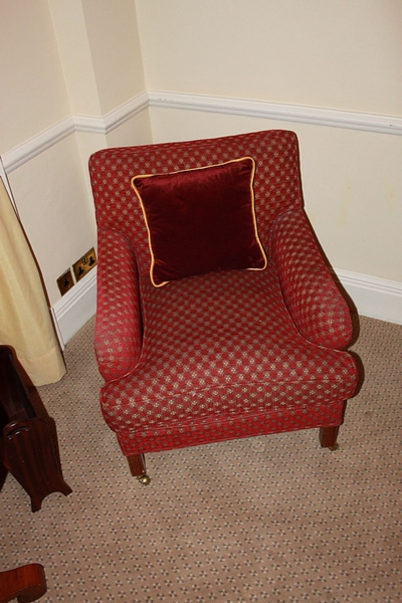
M 38 134 L 51 140 L 8 178 L 54 306 L 57 277 L 96 245 L 90 153 L 151 139 L 146 110 L 107 134 L 90 131 L 91 119 L 102 124 L 144 90 L 134 2 L 2 0 L 0 53 L 0 154 Z M 52 128 L 74 115 L 88 116 L 89 131 L 52 142 Z

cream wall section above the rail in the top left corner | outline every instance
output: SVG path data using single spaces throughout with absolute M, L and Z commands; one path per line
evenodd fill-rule
M 2 0 L 0 154 L 70 114 L 47 0 Z

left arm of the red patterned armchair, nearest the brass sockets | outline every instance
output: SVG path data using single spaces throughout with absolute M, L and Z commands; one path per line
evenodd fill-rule
M 130 242 L 112 230 L 98 232 L 95 353 L 106 381 L 129 373 L 142 344 L 136 260 Z

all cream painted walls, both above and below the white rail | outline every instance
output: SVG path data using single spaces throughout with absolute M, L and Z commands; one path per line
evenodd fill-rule
M 0 154 L 147 89 L 400 115 L 399 0 L 2 0 Z M 9 174 L 52 305 L 95 244 L 87 159 L 105 146 L 289 127 L 306 207 L 337 268 L 402 281 L 401 137 L 150 107 Z M 95 128 L 96 130 L 96 128 Z

